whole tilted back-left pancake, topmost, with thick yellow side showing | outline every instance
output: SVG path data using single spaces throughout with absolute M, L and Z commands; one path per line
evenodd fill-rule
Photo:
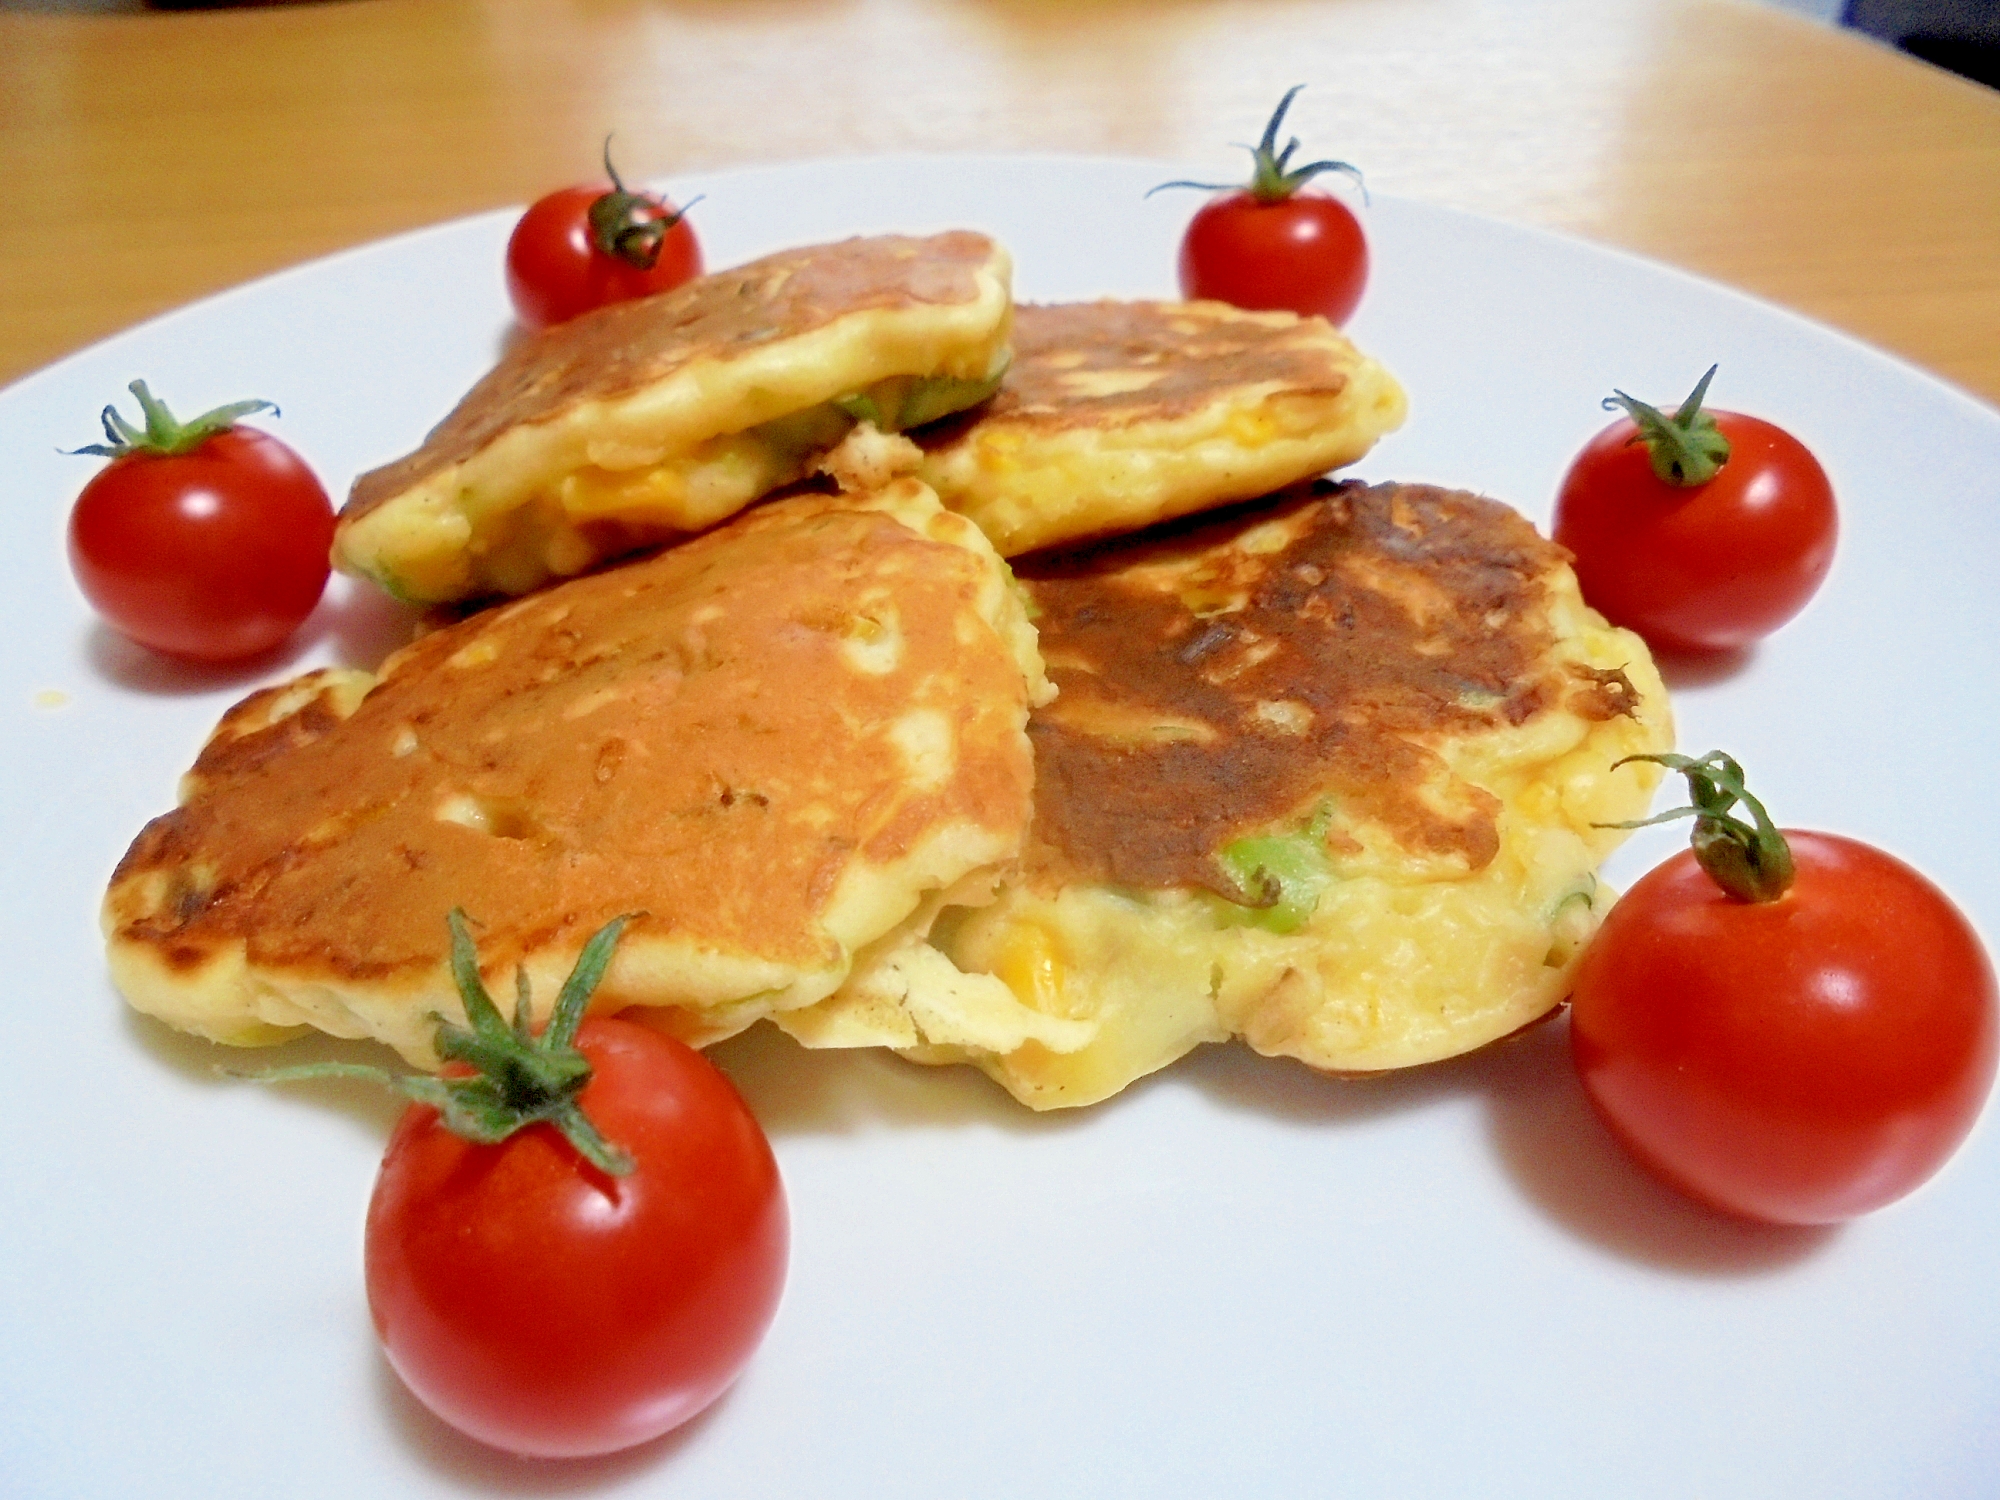
M 706 530 L 860 420 L 900 430 L 990 396 L 1008 278 L 982 234 L 844 240 L 532 334 L 422 448 L 354 482 L 334 562 L 446 602 Z

